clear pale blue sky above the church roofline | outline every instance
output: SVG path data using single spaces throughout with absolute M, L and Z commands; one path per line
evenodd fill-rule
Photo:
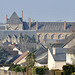
M 15 11 L 28 21 L 75 21 L 75 0 L 0 0 L 0 22 L 6 22 Z

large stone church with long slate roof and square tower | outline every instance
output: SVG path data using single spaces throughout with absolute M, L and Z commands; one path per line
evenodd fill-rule
M 18 17 L 14 12 L 10 18 L 6 15 L 6 24 L 0 24 L 0 41 L 17 44 L 20 33 L 22 33 L 30 37 L 35 35 L 36 41 L 42 44 L 57 43 L 70 36 L 74 31 L 75 22 L 32 22 L 31 18 L 29 18 L 29 22 L 26 22 L 23 21 L 23 11 L 22 17 Z

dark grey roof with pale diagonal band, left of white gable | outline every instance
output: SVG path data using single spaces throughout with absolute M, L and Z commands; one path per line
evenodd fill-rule
M 48 49 L 41 47 L 37 51 L 34 52 L 36 57 L 36 62 L 40 64 L 47 64 L 48 61 Z

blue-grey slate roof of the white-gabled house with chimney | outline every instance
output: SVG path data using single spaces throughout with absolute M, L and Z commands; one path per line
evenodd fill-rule
M 55 61 L 66 61 L 66 48 L 56 48 L 56 54 L 53 54 L 53 49 L 49 48 Z

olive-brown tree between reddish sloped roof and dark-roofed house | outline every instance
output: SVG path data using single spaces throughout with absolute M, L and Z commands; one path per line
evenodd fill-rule
M 35 55 L 32 52 L 29 52 L 27 57 L 26 57 L 26 64 L 27 67 L 33 67 L 35 64 Z

